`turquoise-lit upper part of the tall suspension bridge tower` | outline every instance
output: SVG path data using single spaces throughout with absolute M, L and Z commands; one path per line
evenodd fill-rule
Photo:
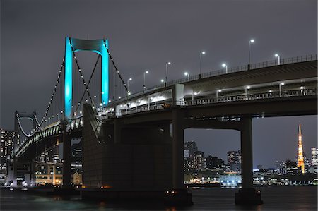
M 71 119 L 72 107 L 72 75 L 73 59 L 75 52 L 90 51 L 102 56 L 102 73 L 100 99 L 103 105 L 108 104 L 109 98 L 109 64 L 108 64 L 108 40 L 81 40 L 71 37 L 65 38 L 65 72 L 64 72 L 64 115 Z

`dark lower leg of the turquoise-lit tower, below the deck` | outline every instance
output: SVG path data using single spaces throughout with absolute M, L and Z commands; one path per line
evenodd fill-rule
M 71 187 L 71 137 L 63 133 L 63 188 Z

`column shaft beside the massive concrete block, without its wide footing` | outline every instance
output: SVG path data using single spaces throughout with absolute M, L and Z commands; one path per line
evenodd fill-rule
M 184 112 L 172 111 L 172 183 L 174 189 L 184 189 Z

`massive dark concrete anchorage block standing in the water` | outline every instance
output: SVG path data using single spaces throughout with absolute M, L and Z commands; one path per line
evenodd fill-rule
M 126 127 L 114 120 L 98 128 L 91 112 L 84 107 L 82 197 L 165 198 L 172 188 L 169 123 Z

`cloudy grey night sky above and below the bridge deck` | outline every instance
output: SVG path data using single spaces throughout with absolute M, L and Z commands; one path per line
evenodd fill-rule
M 1 0 L 1 128 L 13 129 L 14 111 L 42 114 L 54 88 L 64 56 L 64 37 L 106 37 L 123 77 L 133 78 L 132 92 L 165 76 L 184 77 L 248 62 L 317 54 L 317 1 L 44 1 Z M 79 52 L 83 70 L 96 55 Z M 300 108 L 301 109 L 301 108 Z M 305 153 L 317 147 L 317 116 L 253 119 L 254 167 L 273 167 L 276 160 L 295 159 L 298 123 L 302 123 Z M 186 130 L 206 155 L 225 159 L 240 148 L 236 131 Z

